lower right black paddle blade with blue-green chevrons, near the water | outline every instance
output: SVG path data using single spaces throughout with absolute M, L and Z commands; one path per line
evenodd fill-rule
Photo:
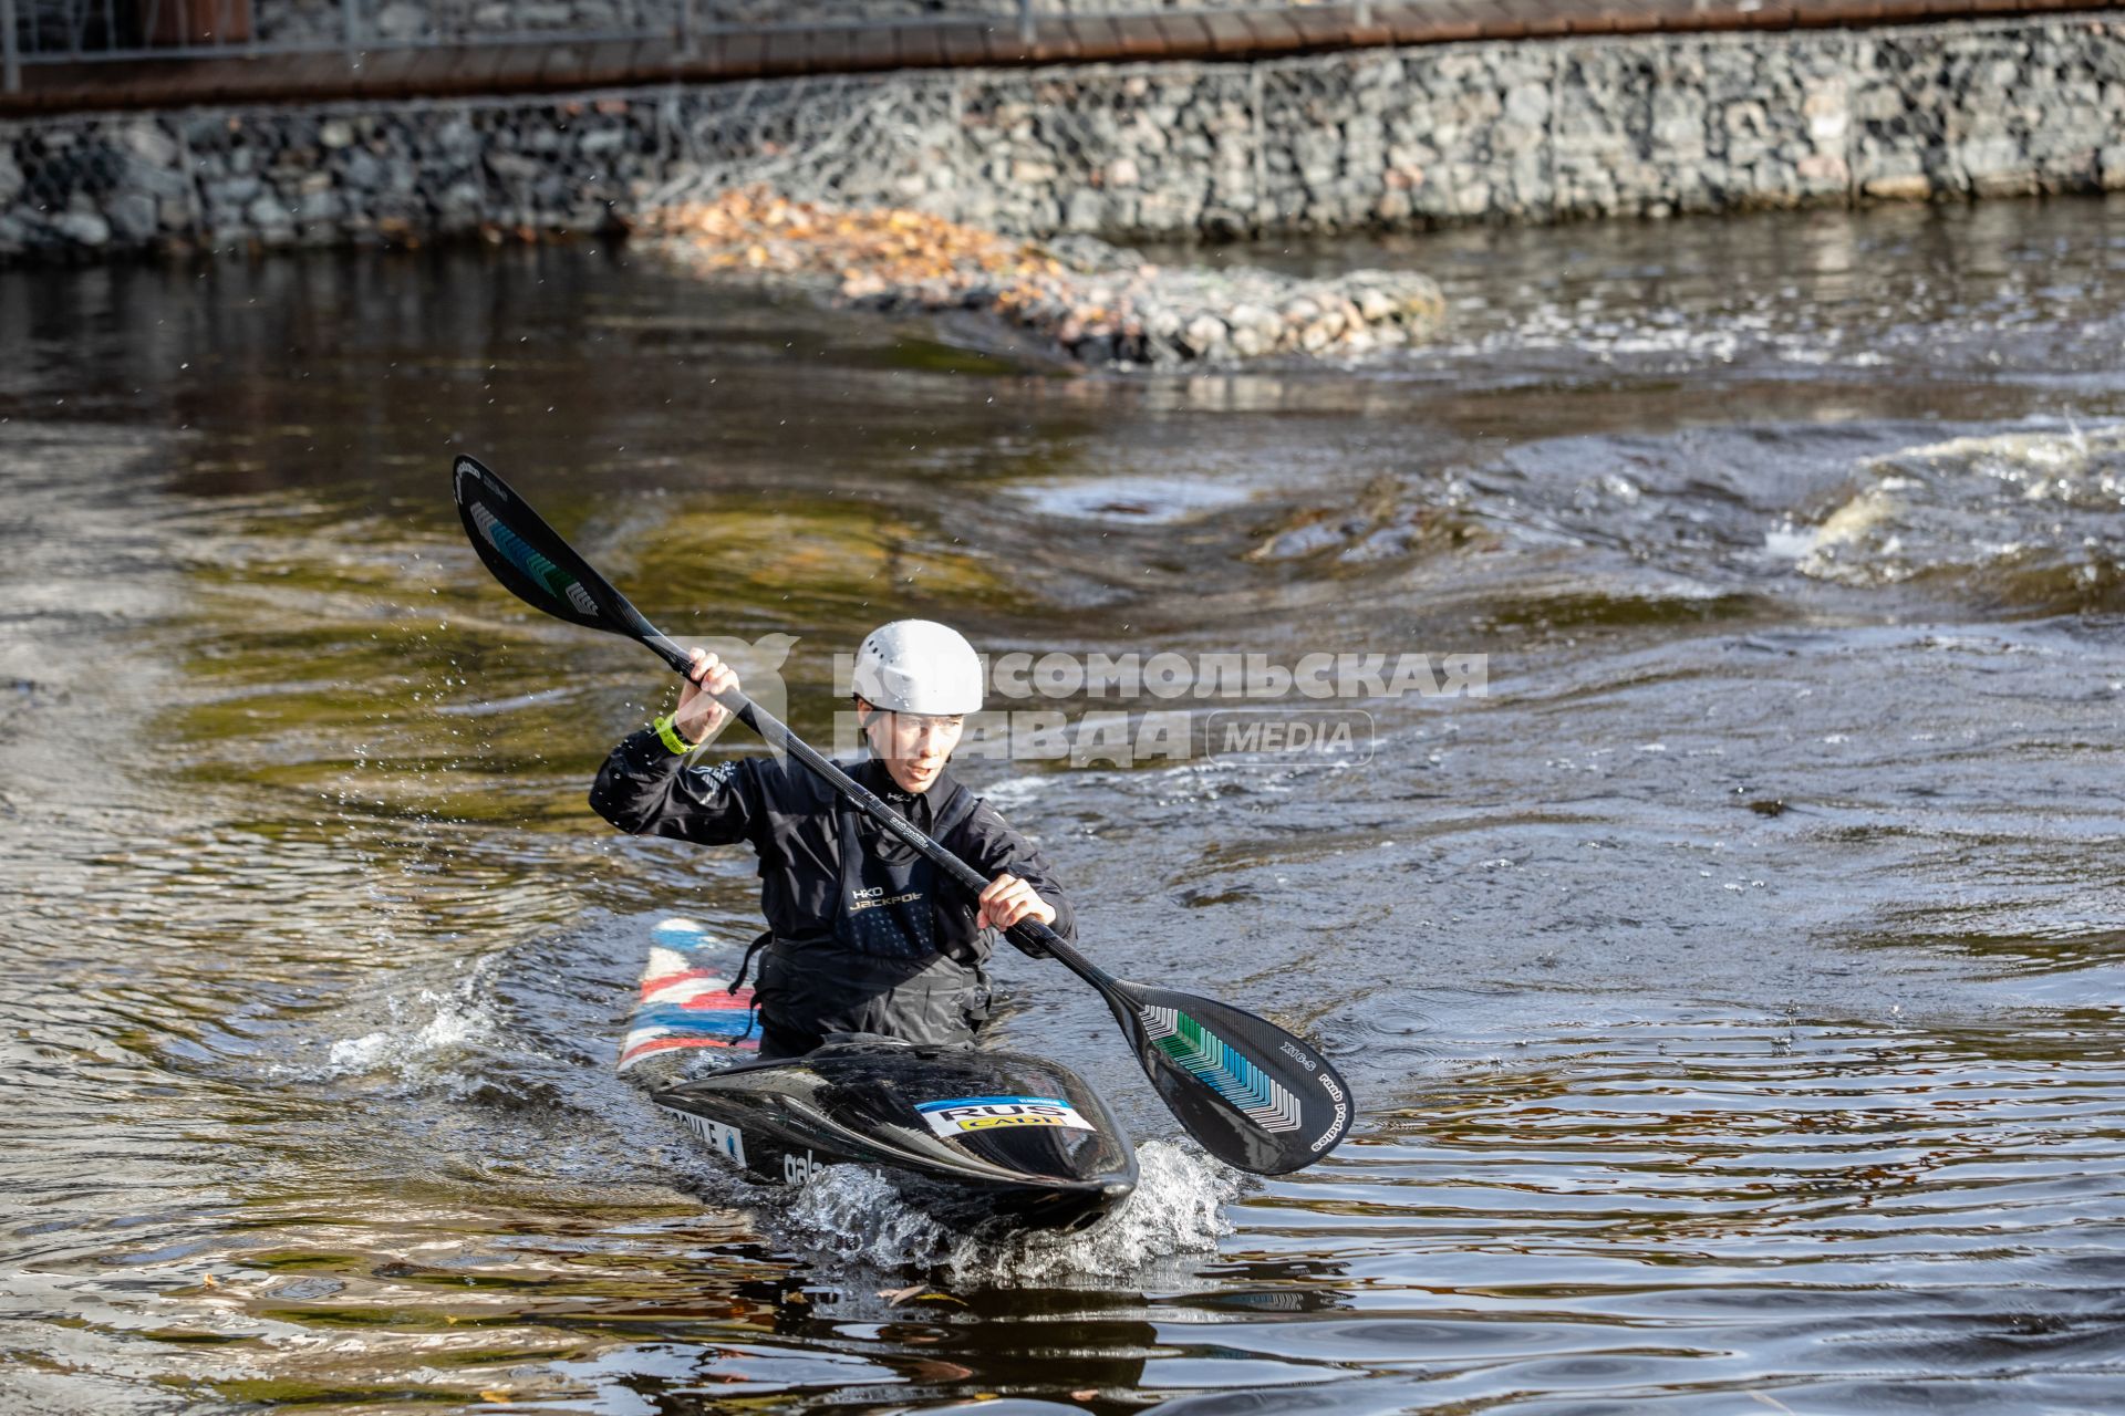
M 1349 1083 L 1269 1019 L 1122 979 L 1107 1002 L 1173 1117 L 1226 1165 L 1286 1174 L 1349 1132 Z

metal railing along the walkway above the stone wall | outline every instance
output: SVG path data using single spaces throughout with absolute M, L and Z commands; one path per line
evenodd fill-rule
M 1288 11 L 1332 4 L 1371 23 L 1373 0 L 0 0 L 0 87 L 26 64 L 210 59 L 457 45 L 672 40 L 716 34 L 1012 23 L 1046 17 Z

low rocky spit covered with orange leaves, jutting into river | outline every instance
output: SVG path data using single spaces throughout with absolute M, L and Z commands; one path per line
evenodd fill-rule
M 657 248 L 718 280 L 790 282 L 867 310 L 973 310 L 1086 365 L 1356 359 L 1445 314 L 1413 272 L 1296 280 L 1145 261 L 1088 236 L 1048 242 L 899 208 L 829 208 L 765 189 L 654 212 Z

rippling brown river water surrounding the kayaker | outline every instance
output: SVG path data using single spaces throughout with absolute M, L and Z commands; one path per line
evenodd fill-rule
M 604 248 L 0 276 L 0 1405 L 2114 1410 L 2125 204 L 1235 255 L 1451 329 L 1058 378 Z M 1014 955 L 1143 1142 L 1111 1229 L 725 1176 L 612 1057 L 752 870 L 589 815 L 665 681 L 493 586 L 459 450 L 797 635 L 818 735 L 901 614 L 1488 654 L 1326 764 L 967 766 L 1354 1138 L 1218 1172 Z

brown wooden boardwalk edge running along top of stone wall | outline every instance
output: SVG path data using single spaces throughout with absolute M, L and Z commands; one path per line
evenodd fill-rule
M 935 17 L 892 25 L 716 34 L 697 53 L 672 38 L 344 53 L 30 64 L 0 115 L 181 108 L 506 93 L 559 93 L 650 83 L 729 83 L 895 68 L 1109 64 L 1130 59 L 1273 59 L 1383 45 L 1543 40 L 1590 34 L 1734 34 L 1944 19 L 2102 13 L 2125 0 L 1426 0 L 1194 13 L 1128 19 L 1041 19 L 1033 40 L 997 19 Z

